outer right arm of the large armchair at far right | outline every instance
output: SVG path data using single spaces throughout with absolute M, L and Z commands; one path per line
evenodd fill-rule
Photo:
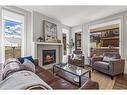
M 117 73 L 124 72 L 124 65 L 125 65 L 124 59 L 116 59 L 116 60 L 110 61 L 109 68 L 112 69 L 112 74 L 115 75 Z

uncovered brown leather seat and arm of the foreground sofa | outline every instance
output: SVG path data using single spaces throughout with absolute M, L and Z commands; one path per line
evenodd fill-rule
M 36 64 L 35 69 L 36 74 L 47 84 L 49 84 L 53 89 L 99 89 L 99 84 L 92 80 L 88 80 L 81 88 L 78 88 L 78 86 L 54 75 L 49 70 L 46 70 L 37 65 L 38 64 L 37 59 L 35 60 L 35 64 Z

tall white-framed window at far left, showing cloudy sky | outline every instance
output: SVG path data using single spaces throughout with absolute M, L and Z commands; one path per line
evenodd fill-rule
M 24 15 L 17 11 L 2 10 L 1 61 L 24 55 Z

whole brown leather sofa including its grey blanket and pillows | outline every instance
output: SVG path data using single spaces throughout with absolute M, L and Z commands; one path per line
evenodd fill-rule
M 21 63 L 23 61 L 23 63 Z M 0 89 L 50 90 L 50 89 L 99 89 L 97 82 L 87 80 L 81 88 L 54 75 L 38 65 L 31 56 L 22 61 L 10 58 L 3 63 Z

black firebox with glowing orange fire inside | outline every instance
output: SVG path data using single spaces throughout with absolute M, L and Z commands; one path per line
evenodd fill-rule
M 53 64 L 56 63 L 56 50 L 43 50 L 42 52 L 43 57 L 43 65 Z

